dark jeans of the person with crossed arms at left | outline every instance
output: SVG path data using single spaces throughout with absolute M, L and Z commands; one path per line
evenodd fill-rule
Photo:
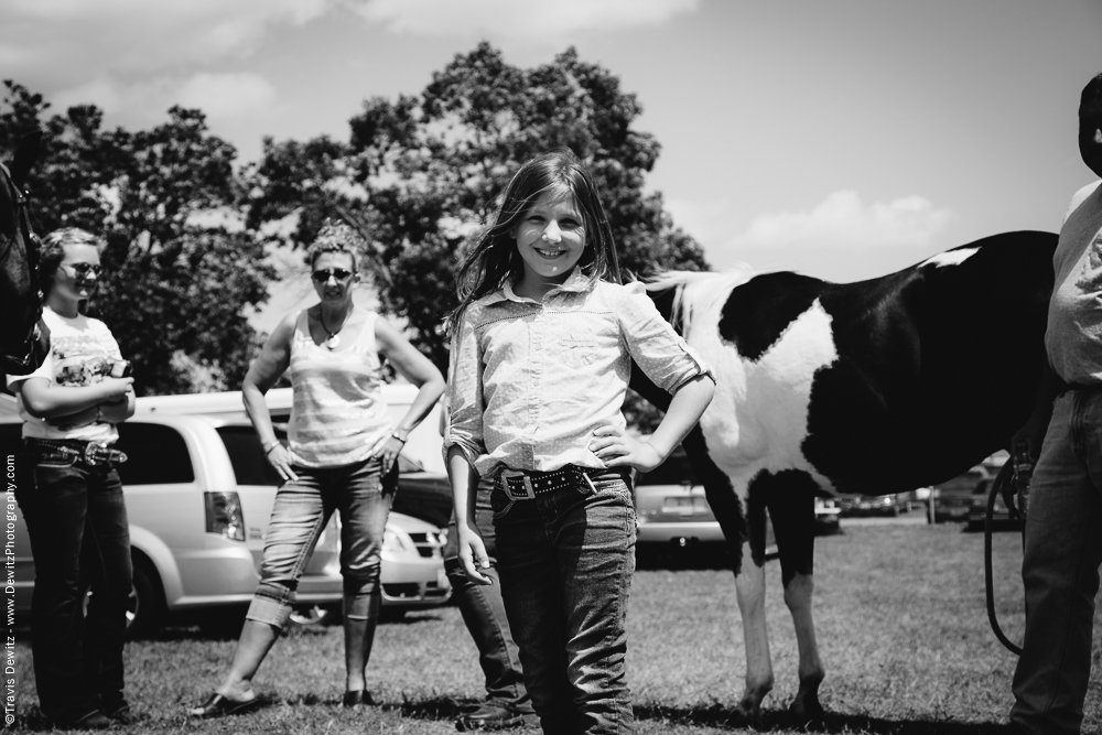
M 111 713 L 126 706 L 130 528 L 110 464 L 88 466 L 69 454 L 34 452 L 34 483 L 17 491 L 34 556 L 34 681 L 42 713 L 66 723 L 97 709 Z M 86 615 L 85 588 L 93 593 Z

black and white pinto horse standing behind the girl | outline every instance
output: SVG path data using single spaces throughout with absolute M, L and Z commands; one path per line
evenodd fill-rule
M 773 688 L 765 510 L 799 644 L 789 709 L 817 718 L 814 497 L 933 485 L 1008 445 L 1045 359 L 1056 240 L 996 235 L 856 283 L 738 271 L 666 273 L 648 287 L 715 370 L 715 397 L 684 446 L 735 553 L 747 717 Z M 638 371 L 633 388 L 669 402 Z

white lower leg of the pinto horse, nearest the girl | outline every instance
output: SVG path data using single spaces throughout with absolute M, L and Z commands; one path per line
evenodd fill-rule
M 744 544 L 742 570 L 735 575 L 746 645 L 746 689 L 738 702 L 738 711 L 748 720 L 758 720 L 761 701 L 773 689 L 773 662 L 765 620 L 765 566 L 752 559 L 748 545 Z

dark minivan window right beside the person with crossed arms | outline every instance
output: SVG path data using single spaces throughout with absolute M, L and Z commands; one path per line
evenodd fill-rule
M 115 465 L 123 487 L 195 482 L 187 443 L 175 429 L 140 421 L 127 421 L 117 428 L 119 441 L 115 448 L 127 455 L 126 462 Z

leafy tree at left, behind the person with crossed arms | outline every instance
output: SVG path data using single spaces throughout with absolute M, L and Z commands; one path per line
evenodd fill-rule
M 173 107 L 152 130 L 105 130 L 95 106 L 47 118 L 41 95 L 4 85 L 0 149 L 44 131 L 28 182 L 35 230 L 82 227 L 107 241 L 89 313 L 133 361 L 139 393 L 240 385 L 259 341 L 247 307 L 267 299 L 274 273 L 262 244 L 234 224 L 234 148 L 198 110 Z

